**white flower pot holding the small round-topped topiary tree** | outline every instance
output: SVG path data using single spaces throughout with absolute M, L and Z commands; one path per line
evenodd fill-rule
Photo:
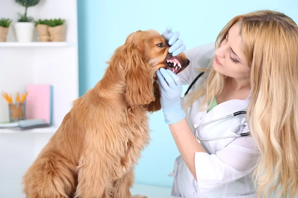
M 14 24 L 16 40 L 18 42 L 32 42 L 34 33 L 34 23 L 16 22 Z

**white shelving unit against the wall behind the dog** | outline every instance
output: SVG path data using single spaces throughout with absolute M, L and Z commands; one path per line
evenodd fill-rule
M 0 42 L 0 94 L 25 93 L 28 84 L 53 86 L 52 127 L 30 130 L 0 129 L 0 198 L 25 198 L 22 177 L 42 148 L 58 130 L 78 98 L 77 1 L 44 0 L 28 9 L 34 19 L 66 20 L 65 42 L 40 42 L 34 29 L 33 42 L 17 42 L 17 12 L 25 9 L 14 0 L 0 0 L 0 18 L 12 23 L 7 42 Z M 59 6 L 57 6 L 59 4 Z M 0 96 L 0 122 L 9 120 L 8 105 Z

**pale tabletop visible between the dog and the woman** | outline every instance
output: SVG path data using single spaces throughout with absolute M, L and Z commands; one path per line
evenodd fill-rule
M 131 189 L 132 195 L 144 195 L 148 198 L 179 198 L 171 196 L 171 188 L 150 186 L 144 184 L 135 184 Z

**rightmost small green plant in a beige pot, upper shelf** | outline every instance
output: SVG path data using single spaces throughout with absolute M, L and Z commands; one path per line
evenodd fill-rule
M 50 19 L 49 20 L 49 33 L 51 37 L 51 41 L 53 42 L 61 42 L 65 41 L 65 20 L 58 18 L 58 19 Z

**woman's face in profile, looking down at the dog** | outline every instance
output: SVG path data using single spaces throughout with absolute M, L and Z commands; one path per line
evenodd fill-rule
M 242 38 L 239 33 L 239 25 L 236 23 L 229 29 L 220 48 L 215 50 L 213 68 L 224 76 L 244 80 L 249 78 L 250 69 L 243 53 Z

